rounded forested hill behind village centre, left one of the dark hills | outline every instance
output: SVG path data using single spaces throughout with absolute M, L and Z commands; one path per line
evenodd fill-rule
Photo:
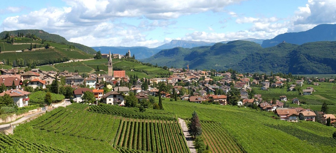
M 176 68 L 189 64 L 191 69 L 226 70 L 258 49 L 262 48 L 257 43 L 237 40 L 226 44 L 216 43 L 213 46 L 164 49 L 141 61 Z

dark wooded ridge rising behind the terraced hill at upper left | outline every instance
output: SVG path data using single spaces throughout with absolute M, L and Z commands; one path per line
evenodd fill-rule
M 85 45 L 82 45 L 82 44 L 79 44 L 79 43 L 69 42 L 68 40 L 66 40 L 62 36 L 59 36 L 59 35 L 56 35 L 56 34 L 50 34 L 50 33 L 47 33 L 43 30 L 29 29 L 29 30 L 3 31 L 3 32 L 0 33 L 0 38 L 3 39 L 5 37 L 5 35 L 7 34 L 7 32 L 11 36 L 17 36 L 19 33 L 23 33 L 24 36 L 27 36 L 29 34 L 34 34 L 36 37 L 44 39 L 46 41 L 56 42 L 56 43 L 59 43 L 59 44 L 62 44 L 62 45 L 67 45 L 68 48 L 69 48 L 69 45 L 71 45 L 71 46 L 75 45 L 75 48 L 78 48 L 78 49 L 80 49 L 82 51 L 85 51 L 87 53 L 90 53 L 90 54 L 96 53 L 96 51 L 91 47 L 88 47 L 88 46 L 85 46 Z M 17 39 L 20 39 L 20 40 L 17 40 L 17 41 L 14 40 L 14 43 L 31 43 L 31 42 L 35 43 L 35 41 L 32 41 L 32 40 L 29 41 L 27 39 L 20 38 L 20 37 L 18 37 Z

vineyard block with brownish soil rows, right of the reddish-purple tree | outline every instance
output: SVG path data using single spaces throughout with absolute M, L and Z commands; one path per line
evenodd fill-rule
M 202 137 L 204 143 L 208 144 L 211 152 L 244 152 L 243 147 L 237 140 L 221 127 L 220 123 L 213 121 L 202 121 Z M 215 129 L 215 130 L 214 130 Z

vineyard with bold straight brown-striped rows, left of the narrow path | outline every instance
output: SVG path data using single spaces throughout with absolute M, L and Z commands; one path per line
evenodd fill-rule
M 114 147 L 148 152 L 190 152 L 177 121 L 124 119 Z

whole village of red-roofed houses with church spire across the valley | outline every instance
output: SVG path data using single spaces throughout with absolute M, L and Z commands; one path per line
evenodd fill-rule
M 126 56 L 130 57 L 130 51 Z M 183 100 L 200 104 L 217 105 L 237 105 L 238 107 L 251 107 L 262 111 L 274 112 L 276 118 L 284 121 L 298 122 L 299 120 L 317 121 L 333 125 L 336 118 L 333 114 L 326 114 L 322 111 L 304 109 L 299 107 L 301 100 L 298 98 L 287 99 L 286 95 L 281 95 L 272 99 L 263 99 L 262 94 L 256 94 L 254 89 L 269 90 L 271 88 L 283 88 L 286 84 L 288 91 L 301 90 L 303 96 L 312 95 L 314 87 L 318 87 L 320 82 L 335 82 L 334 79 L 309 78 L 291 79 L 282 78 L 276 75 L 238 74 L 235 71 L 219 73 L 214 71 L 190 70 L 184 68 L 170 68 L 172 73 L 167 78 L 138 78 L 137 76 L 127 76 L 125 71 L 113 71 L 113 58 L 121 58 L 121 55 L 103 54 L 103 58 L 108 58 L 109 69 L 106 75 L 88 74 L 82 77 L 76 72 L 54 72 L 41 71 L 38 68 L 24 72 L 18 68 L 11 70 L 0 69 L 3 92 L 0 96 L 8 94 L 15 106 L 27 107 L 30 105 L 29 95 L 31 92 L 39 90 L 54 90 L 59 92 L 60 84 L 64 81 L 63 87 L 71 87 L 72 95 L 69 97 L 72 103 L 88 102 L 87 97 L 93 96 L 94 101 L 90 104 L 105 103 L 110 105 L 125 106 L 125 97 L 129 93 L 135 96 L 140 102 L 148 100 L 151 96 L 160 95 L 162 98 L 171 100 Z M 216 78 L 220 78 L 216 80 Z M 293 77 L 292 77 L 293 78 Z M 270 81 L 271 80 L 271 81 Z M 303 83 L 310 86 L 301 89 Z M 159 94 L 158 84 L 165 84 L 169 89 Z M 57 86 L 52 86 L 56 84 Z M 4 87 L 5 86 L 5 87 Z M 5 90 L 4 90 L 5 89 Z M 64 88 L 61 88 L 64 89 Z M 92 93 L 86 95 L 88 93 Z M 86 98 L 83 98 L 86 97 Z M 298 107 L 289 107 L 289 103 Z M 47 105 L 47 104 L 44 104 Z M 292 105 L 293 106 L 293 105 Z M 147 107 L 148 108 L 148 107 Z

